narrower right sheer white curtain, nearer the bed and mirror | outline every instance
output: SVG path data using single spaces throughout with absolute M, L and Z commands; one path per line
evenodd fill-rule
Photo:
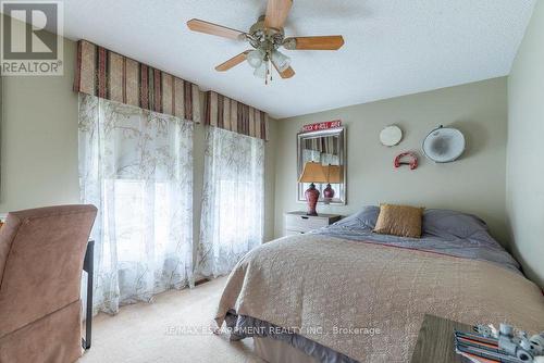
M 220 276 L 262 243 L 264 141 L 209 127 L 206 142 L 198 273 Z

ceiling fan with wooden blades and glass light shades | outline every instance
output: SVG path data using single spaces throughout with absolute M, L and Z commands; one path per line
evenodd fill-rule
M 269 0 L 267 14 L 260 16 L 247 33 L 198 18 L 188 21 L 187 26 L 193 32 L 248 41 L 254 49 L 231 58 L 215 70 L 225 72 L 247 60 L 255 68 L 254 75 L 269 84 L 272 80 L 272 67 L 282 78 L 295 75 L 295 71 L 290 67 L 290 59 L 279 51 L 281 47 L 287 50 L 338 50 L 344 45 L 341 35 L 285 37 L 283 26 L 292 7 L 293 0 Z

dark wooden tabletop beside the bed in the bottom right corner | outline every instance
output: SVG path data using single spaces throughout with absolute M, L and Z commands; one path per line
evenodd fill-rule
M 472 326 L 434 315 L 425 315 L 410 362 L 461 363 L 461 356 L 455 352 L 455 329 L 472 331 Z

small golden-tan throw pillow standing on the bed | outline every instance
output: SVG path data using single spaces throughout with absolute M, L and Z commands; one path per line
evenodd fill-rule
M 421 238 L 423 208 L 381 204 L 374 233 Z

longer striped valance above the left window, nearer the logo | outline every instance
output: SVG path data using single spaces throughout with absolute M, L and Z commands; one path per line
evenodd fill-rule
M 77 42 L 74 91 L 200 122 L 197 85 L 87 40 Z

